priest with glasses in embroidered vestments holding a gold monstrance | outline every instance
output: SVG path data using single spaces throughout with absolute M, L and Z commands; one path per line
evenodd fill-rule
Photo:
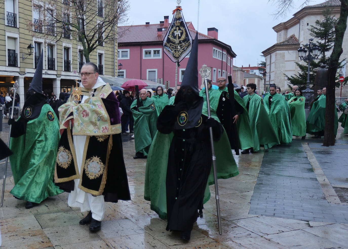
M 54 181 L 69 192 L 68 205 L 89 211 L 80 225 L 98 231 L 104 201 L 130 200 L 123 160 L 119 102 L 94 63 L 81 68 L 81 89 L 58 109 L 61 139 Z

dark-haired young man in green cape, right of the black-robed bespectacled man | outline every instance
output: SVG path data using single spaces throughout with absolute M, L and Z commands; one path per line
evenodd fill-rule
M 276 144 L 279 144 L 277 134 L 272 126 L 272 123 L 267 115 L 262 98 L 255 94 L 256 85 L 250 83 L 246 85 L 248 95 L 243 98 L 243 102 L 249 114 L 250 127 L 254 139 L 254 146 L 244 150 L 243 154 L 248 154 L 249 151 L 256 152 L 260 150 L 260 145 L 268 149 Z

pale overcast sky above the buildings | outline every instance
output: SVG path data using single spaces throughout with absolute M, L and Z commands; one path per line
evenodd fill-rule
M 309 5 L 324 1 L 312 0 Z M 192 22 L 200 33 L 207 34 L 207 28 L 211 27 L 219 30 L 218 39 L 232 47 L 237 54 L 234 65 L 241 67 L 257 66 L 263 60 L 261 52 L 276 43 L 272 27 L 292 18 L 303 2 L 294 0 L 294 8 L 287 17 L 275 19 L 272 13 L 277 6 L 268 0 L 200 0 L 199 25 L 198 0 L 182 0 L 180 5 L 185 21 Z M 129 3 L 128 25 L 155 24 L 164 21 L 164 16 L 169 16 L 171 22 L 176 7 L 176 0 L 129 0 Z

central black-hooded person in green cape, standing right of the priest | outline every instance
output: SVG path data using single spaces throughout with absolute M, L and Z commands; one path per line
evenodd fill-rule
M 226 132 L 216 117 L 208 119 L 203 114 L 206 109 L 197 87 L 197 47 L 196 34 L 174 105 L 167 105 L 158 117 L 145 172 L 145 200 L 151 201 L 151 209 L 159 217 L 168 220 L 166 230 L 181 231 L 183 240 L 190 239 L 193 223 L 203 216 L 203 204 L 210 197 L 208 184 L 214 184 L 209 127 L 213 128 L 215 146 L 223 143 L 215 149 L 220 152 L 216 155 L 216 160 L 220 158 L 217 177 L 238 175 Z

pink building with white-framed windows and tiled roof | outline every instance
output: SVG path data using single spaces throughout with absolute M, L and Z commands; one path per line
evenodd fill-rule
M 159 24 L 145 24 L 133 26 L 119 26 L 121 33 L 118 40 L 118 63 L 122 70 L 118 77 L 147 79 L 161 84 L 166 88 L 175 87 L 175 63 L 163 51 L 163 39 L 168 29 L 168 16 Z M 196 31 L 191 22 L 187 23 L 192 39 Z M 210 79 L 216 85 L 220 76 L 233 74 L 232 64 L 236 54 L 231 46 L 217 40 L 218 31 L 208 29 L 208 35 L 198 33 L 198 71 L 203 64 L 211 68 Z M 180 62 L 177 70 L 177 84 L 181 84 L 189 55 Z M 233 78 L 233 77 L 232 77 Z M 204 79 L 199 76 L 201 81 Z

